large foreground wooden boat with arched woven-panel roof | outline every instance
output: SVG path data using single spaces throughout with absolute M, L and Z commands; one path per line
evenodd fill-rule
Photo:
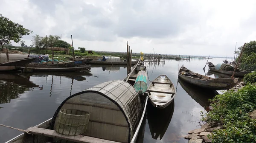
M 63 114 L 65 109 L 70 111 Z M 79 120 L 77 126 L 78 122 L 72 118 L 62 118 L 63 115 L 83 116 L 77 111 L 89 113 L 87 123 Z M 69 96 L 56 109 L 53 118 L 26 129 L 29 134 L 25 132 L 6 143 L 135 143 L 137 127 L 144 116 L 145 108 L 131 84 L 108 81 Z M 81 125 L 84 130 L 80 129 Z M 71 128 L 65 128 L 68 126 Z M 77 135 L 76 131 L 84 132 Z

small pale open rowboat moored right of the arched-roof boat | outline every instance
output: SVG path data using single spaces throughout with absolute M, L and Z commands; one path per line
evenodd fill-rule
M 147 91 L 151 104 L 160 109 L 171 104 L 176 94 L 175 86 L 166 75 L 160 75 L 154 79 Z

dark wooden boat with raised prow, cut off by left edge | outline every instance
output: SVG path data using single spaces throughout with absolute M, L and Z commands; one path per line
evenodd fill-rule
M 22 60 L 0 64 L 0 71 L 16 70 L 20 67 L 26 66 L 30 62 L 33 62 L 35 59 L 36 58 L 28 58 L 28 59 L 22 59 Z

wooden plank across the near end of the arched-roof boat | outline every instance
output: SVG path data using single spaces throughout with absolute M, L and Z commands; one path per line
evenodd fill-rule
M 37 127 L 30 127 L 29 129 L 26 129 L 26 131 L 34 135 L 56 137 L 59 139 L 69 140 L 77 143 L 118 143 L 111 140 L 103 140 L 103 139 L 84 136 L 84 135 L 76 135 L 76 136 L 61 135 L 61 134 L 58 134 L 55 130 L 43 129 L 43 128 L 37 128 Z

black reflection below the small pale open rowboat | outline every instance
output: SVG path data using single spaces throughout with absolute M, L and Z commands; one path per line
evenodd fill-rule
M 174 112 L 174 100 L 168 107 L 164 109 L 154 108 L 152 104 L 148 102 L 146 111 L 148 126 L 152 138 L 157 140 L 157 138 L 159 137 L 161 140 L 172 119 L 172 115 Z

